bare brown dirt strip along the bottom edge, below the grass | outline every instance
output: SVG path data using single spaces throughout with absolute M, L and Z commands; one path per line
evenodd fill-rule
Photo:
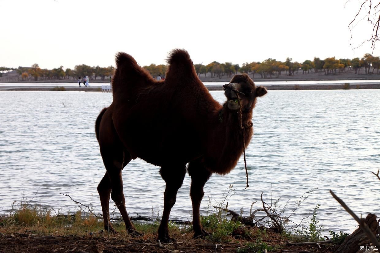
M 247 243 L 254 242 L 255 238 L 233 239 L 231 242 L 210 242 L 207 239 L 192 239 L 190 234 L 183 236 L 178 244 L 162 244 L 155 241 L 155 238 L 108 236 L 100 232 L 89 233 L 86 236 L 38 236 L 28 233 L 0 236 L 1 253 L 38 253 L 38 252 L 82 252 L 82 253 L 121 253 L 121 252 L 257 252 L 247 246 Z M 317 245 L 286 245 L 286 240 L 279 234 L 268 232 L 263 241 L 268 245 L 276 246 L 274 250 L 268 252 L 287 252 L 316 250 Z M 246 249 L 245 249 L 246 248 Z M 331 253 L 334 246 L 321 245 L 321 249 L 315 252 Z

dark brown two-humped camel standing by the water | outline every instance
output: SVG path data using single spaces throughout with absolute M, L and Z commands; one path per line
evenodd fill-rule
M 156 81 L 131 55 L 119 52 L 113 101 L 95 123 L 106 167 L 97 188 L 105 230 L 115 232 L 109 220 L 111 196 L 127 231 L 141 235 L 128 217 L 122 182 L 122 169 L 139 157 L 160 166 L 166 183 L 157 238 L 163 243 L 175 241 L 169 237 L 168 220 L 186 171 L 191 177 L 194 237 L 210 235 L 199 218 L 203 187 L 213 173 L 227 174 L 236 166 L 252 138 L 256 98 L 267 93 L 247 74 L 238 74 L 225 85 L 227 101 L 222 106 L 199 80 L 187 51 L 174 49 L 167 62 L 165 81 Z

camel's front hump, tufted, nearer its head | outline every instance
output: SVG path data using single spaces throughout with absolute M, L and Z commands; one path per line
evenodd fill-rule
M 175 79 L 181 79 L 181 77 L 197 76 L 193 61 L 190 59 L 190 55 L 185 49 L 174 49 L 171 51 L 166 62 L 169 65 L 166 79 L 172 77 Z

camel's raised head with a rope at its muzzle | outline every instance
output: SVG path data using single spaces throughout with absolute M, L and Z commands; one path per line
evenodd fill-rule
M 232 111 L 239 109 L 238 99 L 242 106 L 242 112 L 252 112 L 256 98 L 266 94 L 265 87 L 256 87 L 247 74 L 234 76 L 229 84 L 223 85 L 224 95 L 227 98 L 227 107 Z

